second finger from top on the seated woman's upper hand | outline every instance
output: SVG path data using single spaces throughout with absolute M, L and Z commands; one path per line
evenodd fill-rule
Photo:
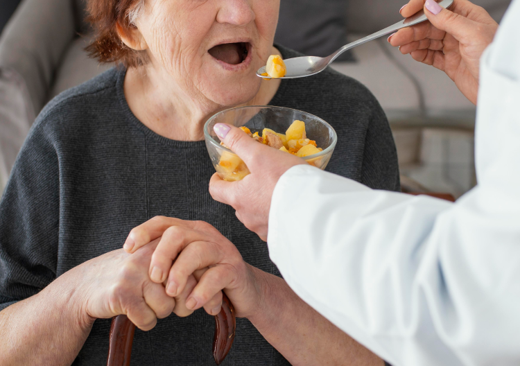
M 198 230 L 182 226 L 168 227 L 152 254 L 149 270 L 150 279 L 157 284 L 162 284 L 168 276 L 171 264 L 187 245 L 195 241 L 211 241 L 211 239 L 210 234 Z M 166 289 L 168 295 L 171 295 L 172 292 L 168 288 L 168 284 Z

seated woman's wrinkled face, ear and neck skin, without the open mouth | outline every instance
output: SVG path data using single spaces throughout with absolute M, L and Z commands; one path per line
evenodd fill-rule
M 147 0 L 137 28 L 118 28 L 149 59 L 125 78 L 132 112 L 165 137 L 198 140 L 218 110 L 267 104 L 279 80 L 263 82 L 256 71 L 277 52 L 278 11 L 279 0 Z M 223 64 L 208 52 L 229 42 L 249 42 L 250 61 Z

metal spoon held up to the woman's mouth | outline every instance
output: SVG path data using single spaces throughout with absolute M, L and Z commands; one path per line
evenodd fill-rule
M 449 8 L 453 0 L 443 0 L 439 3 L 443 8 Z M 355 46 L 359 46 L 360 44 L 375 40 L 376 38 L 382 37 L 383 35 L 388 35 L 390 33 L 397 32 L 397 30 L 401 28 L 406 28 L 409 26 L 415 26 L 415 24 L 422 23 L 423 21 L 428 20 L 426 15 L 424 15 L 424 10 L 416 12 L 415 15 L 408 17 L 404 20 L 399 21 L 393 26 L 389 26 L 388 28 L 384 28 L 383 30 L 379 30 L 372 35 L 367 35 L 367 37 L 361 38 L 361 40 L 357 40 L 356 42 L 352 42 L 347 44 L 346 46 L 341 47 L 338 51 L 334 52 L 332 55 L 329 55 L 326 58 L 320 58 L 317 56 L 304 56 L 299 58 L 288 58 L 284 60 L 287 72 L 286 75 L 281 79 L 295 79 L 295 78 L 303 78 L 305 76 L 311 76 L 315 73 L 319 73 L 323 71 L 333 60 L 341 55 L 343 52 L 353 49 Z M 257 71 L 257 76 L 261 78 L 270 79 L 269 76 L 262 76 L 262 73 L 266 73 L 266 67 L 261 67 Z

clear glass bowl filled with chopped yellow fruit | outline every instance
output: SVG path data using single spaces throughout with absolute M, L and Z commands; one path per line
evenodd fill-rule
M 240 127 L 252 139 L 271 148 L 301 157 L 324 169 L 336 146 L 336 131 L 313 114 L 284 107 L 237 107 L 209 119 L 204 133 L 215 170 L 223 180 L 242 180 L 250 173 L 245 163 L 216 136 L 213 126 L 227 123 Z M 282 131 L 284 133 L 282 133 Z

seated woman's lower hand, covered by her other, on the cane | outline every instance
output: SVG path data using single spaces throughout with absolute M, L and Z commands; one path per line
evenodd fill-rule
M 67 275 L 75 278 L 73 284 L 83 311 L 94 319 L 125 314 L 144 331 L 152 329 L 157 318 L 170 315 L 175 299 L 166 295 L 162 284 L 148 277 L 157 244 L 150 243 L 131 255 L 114 250 L 69 271 Z

